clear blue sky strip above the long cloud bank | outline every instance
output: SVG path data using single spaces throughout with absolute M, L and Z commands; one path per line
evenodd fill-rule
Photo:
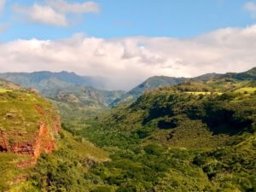
M 1 41 L 17 38 L 60 39 L 79 32 L 97 38 L 190 38 L 218 28 L 244 27 L 255 22 L 244 8 L 246 0 L 96 0 L 100 11 L 67 15 L 75 22 L 70 26 L 29 22 L 14 11 L 15 5 L 28 7 L 35 2 L 45 3 L 44 0 L 7 0 L 0 17 L 5 28 L 0 33 Z

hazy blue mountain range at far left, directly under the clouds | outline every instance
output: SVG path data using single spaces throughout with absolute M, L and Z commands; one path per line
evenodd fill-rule
M 43 96 L 52 99 L 61 98 L 63 95 L 74 96 L 89 100 L 95 100 L 99 105 L 108 106 L 115 96 L 123 94 L 123 91 L 101 90 L 104 87 L 104 79 L 79 76 L 75 73 L 60 72 L 34 72 L 34 73 L 0 73 L 0 79 L 9 80 L 25 88 L 34 88 Z M 113 97 L 113 98 L 112 98 Z

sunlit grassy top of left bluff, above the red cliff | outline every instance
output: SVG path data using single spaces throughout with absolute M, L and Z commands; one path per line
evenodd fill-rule
M 15 141 L 31 141 L 41 121 L 49 122 L 55 116 L 51 104 L 27 90 L 0 93 L 0 130 L 12 135 Z M 9 133 L 10 132 L 10 133 Z

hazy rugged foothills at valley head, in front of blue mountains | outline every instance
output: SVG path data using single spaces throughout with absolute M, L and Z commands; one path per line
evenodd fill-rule
M 43 92 L 44 96 L 55 104 L 55 108 L 59 109 L 61 117 L 70 119 L 79 116 L 91 116 L 106 110 L 109 102 L 124 94 L 123 91 L 119 90 L 96 90 L 73 84 L 63 88 L 53 86 L 52 89 Z

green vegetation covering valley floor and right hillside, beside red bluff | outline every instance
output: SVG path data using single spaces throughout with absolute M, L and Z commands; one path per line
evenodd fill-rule
M 27 178 L 11 191 L 256 191 L 254 73 L 207 74 L 75 115 L 77 92 L 55 98 L 63 122 L 57 148 L 17 170 Z M 1 158 L 3 170 L 14 167 L 15 155 Z M 10 170 L 3 189 L 16 174 Z

